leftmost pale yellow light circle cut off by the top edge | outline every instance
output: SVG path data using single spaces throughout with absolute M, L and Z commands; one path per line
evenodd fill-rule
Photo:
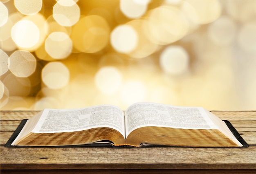
M 41 10 L 43 2 L 42 0 L 14 0 L 14 5 L 20 13 L 34 15 Z

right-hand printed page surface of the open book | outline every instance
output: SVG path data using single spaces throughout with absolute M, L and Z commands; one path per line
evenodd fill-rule
M 136 103 L 125 113 L 126 137 L 132 130 L 145 126 L 183 129 L 218 129 L 204 108 Z

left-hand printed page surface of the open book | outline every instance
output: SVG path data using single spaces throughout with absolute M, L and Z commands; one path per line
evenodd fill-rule
M 125 137 L 124 112 L 112 105 L 79 109 L 45 109 L 32 132 L 73 132 L 99 127 L 113 128 Z

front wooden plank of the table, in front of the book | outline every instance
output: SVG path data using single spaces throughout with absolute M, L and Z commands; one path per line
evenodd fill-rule
M 249 148 L 4 148 L 1 169 L 256 169 Z

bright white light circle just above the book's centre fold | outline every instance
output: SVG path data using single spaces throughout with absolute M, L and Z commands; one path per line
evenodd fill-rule
M 121 89 L 121 99 L 129 106 L 135 102 L 145 101 L 146 87 L 140 81 L 127 81 Z

